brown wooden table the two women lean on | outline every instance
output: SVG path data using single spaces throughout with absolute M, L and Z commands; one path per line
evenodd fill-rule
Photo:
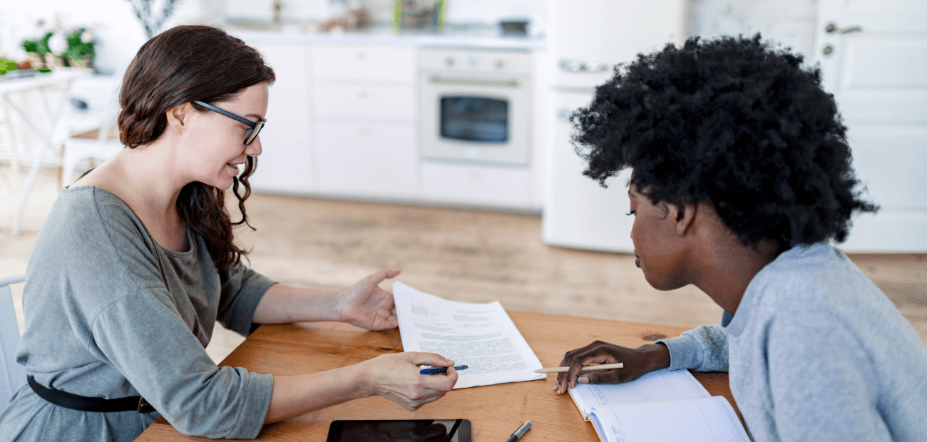
M 573 316 L 509 311 L 509 316 L 545 367 L 560 364 L 564 353 L 595 339 L 626 347 L 677 336 L 687 327 L 605 321 Z M 399 330 L 364 332 L 337 322 L 262 325 L 221 365 L 275 375 L 316 373 L 402 351 Z M 724 396 L 740 416 L 730 395 L 728 373 L 693 373 L 712 396 Z M 260 440 L 324 442 L 328 425 L 338 419 L 469 419 L 473 440 L 505 440 L 519 425 L 533 426 L 522 437 L 536 441 L 598 441 L 591 423 L 583 422 L 569 395 L 553 392 L 556 376 L 546 380 L 452 390 L 444 398 L 409 411 L 380 397 L 352 400 L 281 423 L 265 425 Z M 743 417 L 741 418 L 743 422 Z M 163 418 L 137 441 L 211 440 L 179 434 Z

